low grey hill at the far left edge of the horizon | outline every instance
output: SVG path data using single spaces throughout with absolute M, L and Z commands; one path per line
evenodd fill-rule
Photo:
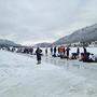
M 0 39 L 0 46 L 20 46 L 20 44 L 16 44 L 10 40 Z

